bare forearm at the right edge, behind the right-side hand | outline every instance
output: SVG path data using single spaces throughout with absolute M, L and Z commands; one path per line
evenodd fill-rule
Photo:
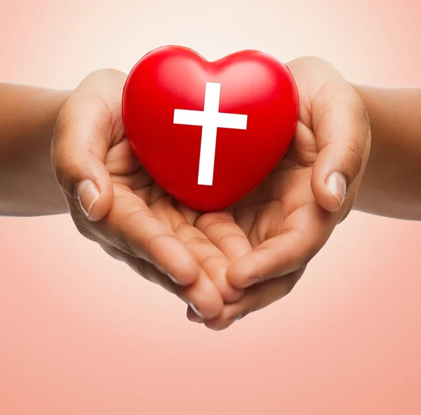
M 421 220 L 421 88 L 355 89 L 372 131 L 355 209 Z

